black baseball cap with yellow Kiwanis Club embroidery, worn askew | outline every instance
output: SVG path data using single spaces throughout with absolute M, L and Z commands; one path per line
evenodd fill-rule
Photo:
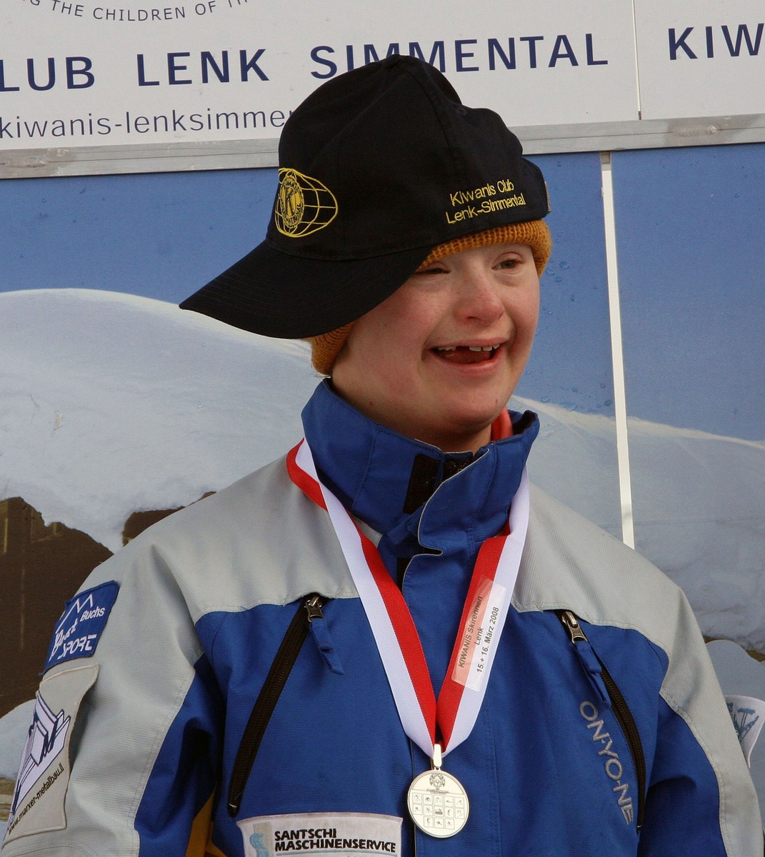
M 322 84 L 285 123 L 266 239 L 180 306 L 298 339 L 355 321 L 430 250 L 550 211 L 501 117 L 416 57 Z

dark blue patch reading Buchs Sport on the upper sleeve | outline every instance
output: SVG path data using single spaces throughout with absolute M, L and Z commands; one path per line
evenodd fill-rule
M 119 584 L 111 580 L 81 592 L 66 602 L 45 660 L 44 672 L 75 657 L 90 657 L 117 600 Z

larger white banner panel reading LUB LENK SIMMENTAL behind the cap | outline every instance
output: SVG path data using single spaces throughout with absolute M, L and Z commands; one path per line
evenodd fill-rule
M 629 0 L 3 0 L 0 149 L 278 137 L 322 81 L 391 52 L 510 127 L 638 116 Z

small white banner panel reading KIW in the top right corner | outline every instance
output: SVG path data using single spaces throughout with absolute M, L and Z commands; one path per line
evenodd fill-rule
M 765 111 L 762 0 L 635 0 L 643 119 Z

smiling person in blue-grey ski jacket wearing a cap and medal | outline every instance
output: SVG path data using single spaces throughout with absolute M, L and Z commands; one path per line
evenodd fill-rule
M 683 593 L 528 485 L 549 208 L 427 63 L 298 107 L 265 241 L 182 306 L 310 339 L 304 441 L 68 602 L 3 857 L 762 854 Z

